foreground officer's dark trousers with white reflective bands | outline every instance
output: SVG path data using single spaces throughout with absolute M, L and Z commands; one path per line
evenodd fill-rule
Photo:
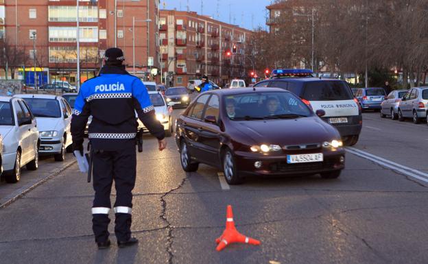
M 111 208 L 110 192 L 115 180 L 116 202 L 115 235 L 118 241 L 128 241 L 131 236 L 132 189 L 135 185 L 136 153 L 135 147 L 120 151 L 93 152 L 93 232 L 96 242 L 108 239 L 108 211 Z

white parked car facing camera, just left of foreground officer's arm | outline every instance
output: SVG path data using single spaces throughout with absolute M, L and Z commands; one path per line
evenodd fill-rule
M 36 117 L 40 131 L 40 155 L 51 155 L 56 161 L 71 152 L 71 107 L 67 100 L 56 95 L 16 95 L 21 97 Z

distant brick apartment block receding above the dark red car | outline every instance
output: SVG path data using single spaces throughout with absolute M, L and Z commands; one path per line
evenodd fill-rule
M 207 75 L 217 84 L 246 77 L 246 40 L 252 32 L 196 12 L 160 10 L 160 69 L 169 85 L 186 86 Z M 226 56 L 236 45 L 237 52 Z

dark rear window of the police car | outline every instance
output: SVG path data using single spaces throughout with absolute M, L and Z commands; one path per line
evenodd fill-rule
M 352 100 L 353 94 L 343 81 L 308 82 L 302 97 L 309 101 Z

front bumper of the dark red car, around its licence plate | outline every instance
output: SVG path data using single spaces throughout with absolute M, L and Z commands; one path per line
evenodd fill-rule
M 312 153 L 320 153 L 320 150 L 314 150 Z M 259 176 L 294 176 L 344 169 L 344 149 L 337 149 L 335 152 L 324 151 L 322 153 L 324 155 L 324 161 L 322 162 L 288 164 L 287 155 L 285 154 L 283 156 L 257 156 L 248 152 L 236 152 L 235 162 L 237 163 L 239 171 L 242 173 Z M 341 158 L 343 158 L 343 162 L 341 162 Z M 261 167 L 259 168 L 254 165 L 258 161 L 261 162 Z

